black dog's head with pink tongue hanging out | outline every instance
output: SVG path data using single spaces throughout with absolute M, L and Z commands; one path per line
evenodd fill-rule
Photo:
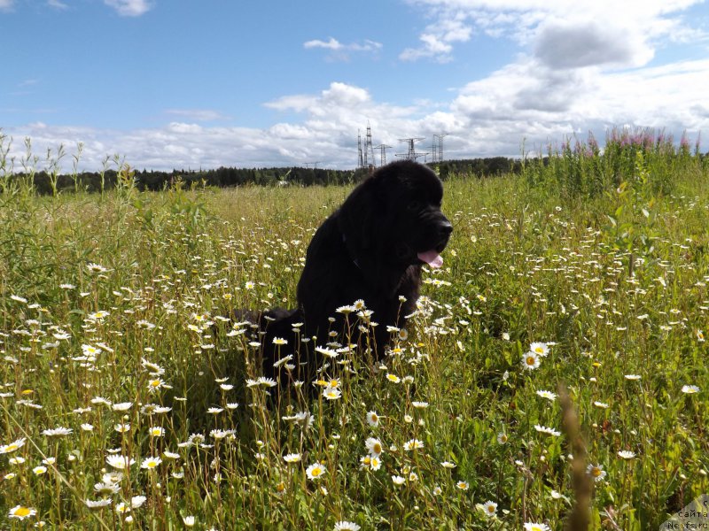
M 453 230 L 440 212 L 443 185 L 425 165 L 399 161 L 363 181 L 340 209 L 340 229 L 356 256 L 376 253 L 401 266 L 439 267 Z

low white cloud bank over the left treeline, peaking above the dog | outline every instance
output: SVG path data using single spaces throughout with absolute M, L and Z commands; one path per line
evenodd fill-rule
M 34 123 L 8 128 L 5 133 L 17 140 L 10 154 L 17 161 L 24 153 L 19 139 L 26 136 L 32 138 L 35 153 L 56 150 L 59 144 L 71 152 L 76 142 L 83 142 L 82 167 L 92 170 L 116 153 L 126 156 L 135 167 L 163 170 L 302 165 L 309 160 L 349 169 L 357 163 L 357 130 L 362 129 L 363 134 L 368 121 L 376 142 L 387 143 L 397 152 L 406 150 L 399 138 L 427 134 L 428 130 L 425 107 L 381 103 L 367 89 L 342 82 L 333 82 L 316 94 L 284 96 L 266 105 L 276 111 L 296 112 L 300 118 L 264 128 L 215 127 L 182 120 L 127 132 Z M 452 117 L 441 115 L 434 122 L 449 119 Z M 387 155 L 393 159 L 393 150 Z

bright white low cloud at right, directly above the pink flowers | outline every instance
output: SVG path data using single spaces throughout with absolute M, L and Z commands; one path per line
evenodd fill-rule
M 501 154 L 514 153 L 515 139 L 540 147 L 589 130 L 603 138 L 607 128 L 625 124 L 697 135 L 709 128 L 709 112 L 697 106 L 706 79 L 709 60 L 602 73 L 597 66 L 552 70 L 523 57 L 468 84 L 451 112 L 470 128 L 470 147 L 488 143 Z M 486 142 L 472 142 L 476 128 L 487 132 Z

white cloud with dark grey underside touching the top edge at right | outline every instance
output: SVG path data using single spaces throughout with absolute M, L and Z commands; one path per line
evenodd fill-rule
M 419 36 L 424 46 L 404 50 L 401 58 L 450 60 L 456 42 L 467 42 L 471 35 L 480 33 L 532 46 L 549 65 L 564 68 L 593 61 L 644 65 L 663 41 L 706 37 L 682 19 L 684 10 L 702 1 L 409 0 L 409 4 L 431 12 L 435 22 Z M 446 27 L 454 31 L 447 32 Z M 584 49 L 584 44 L 592 50 Z M 576 58 L 579 51 L 580 59 Z M 596 53 L 600 57 L 594 59 Z

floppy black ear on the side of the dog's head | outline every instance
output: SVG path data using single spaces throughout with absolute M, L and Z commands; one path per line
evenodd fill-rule
M 385 207 L 379 183 L 377 173 L 368 177 L 352 190 L 339 207 L 338 227 L 347 249 L 354 256 L 359 256 L 363 250 L 370 250 L 381 230 L 377 227 L 377 220 L 381 219 Z

